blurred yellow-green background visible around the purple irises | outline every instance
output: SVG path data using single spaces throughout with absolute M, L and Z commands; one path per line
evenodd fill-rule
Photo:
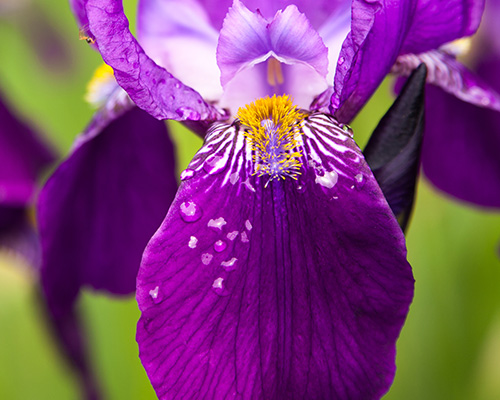
M 135 2 L 125 6 L 134 15 Z M 0 11 L 0 91 L 63 157 L 92 115 L 83 95 L 100 57 L 78 40 L 66 1 L 0 0 Z M 44 60 L 57 47 L 62 53 Z M 385 82 L 353 124 L 361 147 L 391 101 Z M 179 128 L 174 136 L 183 168 L 201 141 Z M 499 214 L 421 180 L 407 235 L 415 299 L 384 399 L 500 399 L 499 241 Z M 40 313 L 36 279 L 21 260 L 0 253 L 0 399 L 78 399 Z M 134 299 L 85 292 L 80 306 L 105 398 L 155 399 L 137 357 Z

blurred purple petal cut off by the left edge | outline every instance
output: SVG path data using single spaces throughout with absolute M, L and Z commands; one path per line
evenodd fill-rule
M 54 155 L 0 97 L 0 207 L 32 200 L 37 178 Z

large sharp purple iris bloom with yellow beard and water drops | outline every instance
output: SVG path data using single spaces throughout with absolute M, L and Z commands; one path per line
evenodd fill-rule
M 137 278 L 161 399 L 380 398 L 413 278 L 343 124 L 398 57 L 474 33 L 482 2 L 145 0 L 139 41 L 120 1 L 71 3 L 130 99 L 205 142 L 170 205 L 164 125 L 99 86 L 39 202 L 54 314 L 83 285 L 130 293 L 168 210 Z

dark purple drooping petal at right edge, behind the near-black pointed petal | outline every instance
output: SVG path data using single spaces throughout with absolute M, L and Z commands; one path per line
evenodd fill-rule
M 477 74 L 500 89 L 500 58 L 485 60 Z M 500 113 L 467 104 L 429 86 L 422 152 L 425 175 L 461 200 L 500 207 Z

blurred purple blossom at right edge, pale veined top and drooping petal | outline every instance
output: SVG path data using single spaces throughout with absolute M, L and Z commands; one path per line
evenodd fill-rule
M 408 71 L 425 62 L 430 82 L 444 89 L 427 89 L 425 175 L 460 200 L 496 208 L 500 207 L 499 18 L 500 1 L 488 0 L 481 29 L 472 41 L 403 56 L 397 66 Z M 465 56 L 471 70 L 457 62 L 457 56 Z

